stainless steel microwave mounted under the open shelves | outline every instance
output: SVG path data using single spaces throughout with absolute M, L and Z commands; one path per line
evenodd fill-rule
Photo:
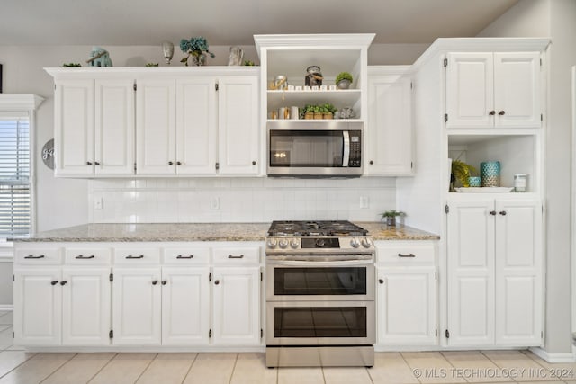
M 357 177 L 363 173 L 363 123 L 273 121 L 268 123 L 269 176 Z

